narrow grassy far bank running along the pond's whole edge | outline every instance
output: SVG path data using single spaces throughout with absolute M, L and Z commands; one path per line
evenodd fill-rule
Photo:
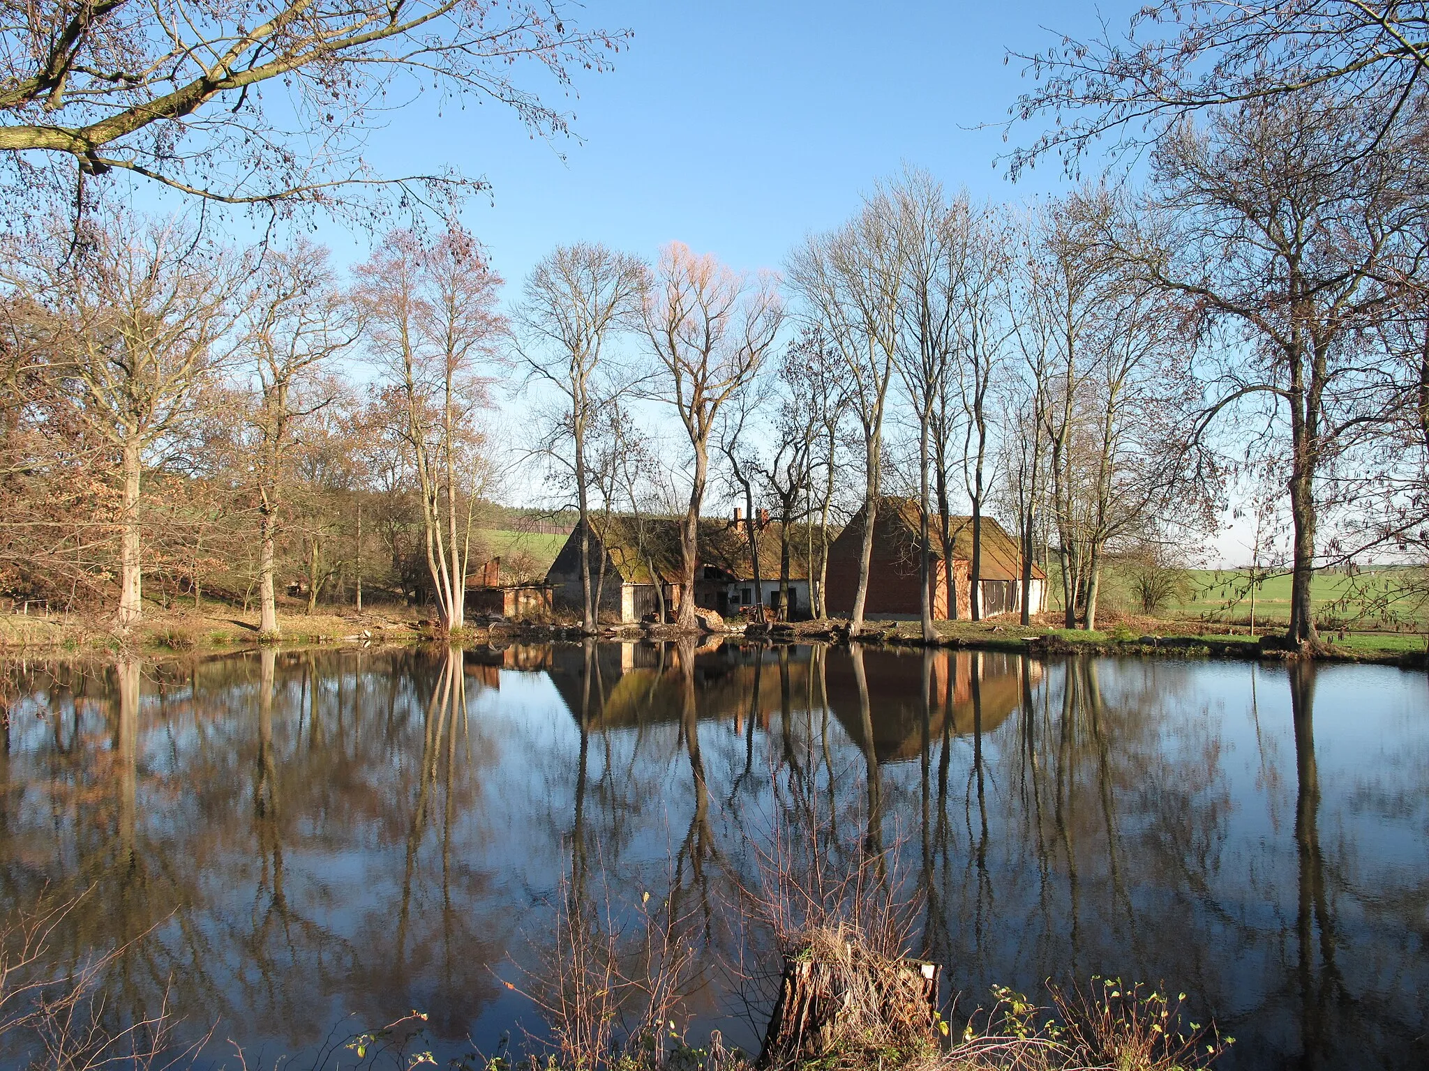
M 943 650 L 1000 651 L 1036 657 L 1065 657 L 1089 654 L 1097 657 L 1137 658 L 1219 658 L 1230 661 L 1288 661 L 1309 658 L 1318 663 L 1359 663 L 1396 665 L 1406 670 L 1429 668 L 1429 640 L 1415 633 L 1359 633 L 1349 638 L 1355 645 L 1335 643 L 1326 634 L 1326 645 L 1315 653 L 1286 648 L 1278 635 L 1249 635 L 1226 631 L 1216 623 L 1135 620 L 1109 630 L 1085 633 L 1047 625 L 1020 625 L 1003 621 L 940 621 L 937 640 L 929 644 Z M 272 643 L 284 647 L 410 647 L 447 640 L 436 624 L 390 608 L 367 611 L 362 615 L 306 614 L 287 615 L 284 633 Z M 686 637 L 707 643 L 730 640 L 736 643 L 789 644 L 827 643 L 895 650 L 922 650 L 925 641 L 917 621 L 867 621 L 855 638 L 847 634 L 847 623 L 812 620 L 776 623 L 772 625 L 735 625 L 726 630 L 700 631 L 693 635 L 673 625 L 623 624 L 607 625 L 589 638 L 606 643 L 679 641 Z M 456 643 L 462 645 L 510 645 L 513 643 L 580 641 L 587 634 L 563 623 L 503 621 L 469 627 Z M 107 627 L 101 618 L 20 617 L 0 618 L 0 658 L 26 657 L 93 657 L 124 654 L 226 654 L 252 650 L 269 643 L 257 631 L 256 621 L 247 621 L 227 607 L 203 611 L 159 611 L 146 618 L 127 637 Z

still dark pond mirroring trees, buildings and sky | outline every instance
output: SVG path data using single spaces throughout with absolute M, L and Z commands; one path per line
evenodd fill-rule
M 1425 1060 L 1422 673 L 714 643 L 4 680 L 6 908 L 71 904 L 57 967 L 119 950 L 110 1012 L 167 992 L 204 1064 L 410 1010 L 442 1061 L 519 1047 L 573 888 L 693 920 L 693 1035 L 757 1047 L 723 914 L 809 815 L 920 897 L 960 1012 L 1116 975 L 1185 991 L 1223 1067 Z

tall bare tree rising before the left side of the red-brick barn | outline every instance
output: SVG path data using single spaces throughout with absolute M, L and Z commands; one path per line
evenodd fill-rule
M 789 280 L 810 324 L 849 371 L 847 397 L 863 433 L 863 544 L 849 635 L 863 630 L 869 561 L 883 467 L 883 417 L 899 347 L 903 251 L 893 197 L 877 187 L 859 213 L 795 251 Z

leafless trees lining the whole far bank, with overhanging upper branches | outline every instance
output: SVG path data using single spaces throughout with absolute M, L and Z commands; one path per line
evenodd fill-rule
M 191 53 L 176 43 L 150 57 L 161 76 L 110 91 L 96 57 L 113 66 L 126 40 L 149 40 L 151 19 L 111 7 L 50 13 L 31 33 L 44 47 L 11 56 L 17 89 L 0 100 L 7 161 L 79 160 L 73 204 L 24 201 L 30 226 L 0 253 L 0 573 L 17 597 L 111 605 L 129 628 L 149 575 L 164 600 L 207 588 L 253 601 L 276 633 L 286 577 L 303 577 L 309 608 L 324 591 L 360 605 L 366 578 L 460 631 L 509 438 L 499 407 L 516 387 L 526 457 L 544 461 L 549 497 L 580 521 L 587 628 L 603 583 L 590 534 L 614 513 L 637 531 L 679 520 L 677 615 L 693 625 L 699 520 L 720 494 L 745 506 L 756 570 L 760 518 L 780 521 L 786 581 L 792 538 L 822 578 L 833 530 L 865 518 L 855 634 L 887 494 L 920 506 L 929 638 L 932 571 L 953 590 L 939 548 L 962 508 L 975 618 L 996 516 L 1020 543 L 1023 584 L 1042 561 L 1065 624 L 1089 630 L 1109 557 L 1202 547 L 1232 500 L 1258 517 L 1256 564 L 1293 575 L 1295 644 L 1318 643 L 1318 568 L 1370 554 L 1422 563 L 1429 548 L 1426 127 L 1406 13 L 1419 6 L 1378 21 L 1366 4 L 1147 9 L 1125 41 L 1026 57 L 1039 83 L 1015 106 L 1019 120 L 1076 119 L 1013 153 L 1013 169 L 1060 151 L 1076 170 L 1112 136 L 1135 150 L 1129 170 L 997 204 L 909 167 L 809 234 L 779 274 L 677 243 L 653 260 L 572 244 L 504 306 L 486 251 L 450 214 L 387 228 L 340 277 L 303 240 L 279 231 L 236 248 L 201 213 L 137 216 L 93 184 L 130 170 L 280 217 L 320 203 L 329 183 L 364 180 L 299 176 L 283 146 L 260 140 L 246 174 L 277 176 L 274 188 L 220 193 L 231 139 L 252 140 L 252 87 L 310 73 L 302 91 L 336 94 L 352 119 L 372 84 L 332 74 L 334 56 L 400 71 L 383 41 L 456 19 L 457 44 L 432 46 L 439 83 L 559 129 L 563 117 L 487 71 L 524 56 L 564 79 L 567 63 L 599 66 L 620 34 L 520 11 L 484 34 L 484 11 L 457 6 L 372 40 L 349 40 L 346 24 L 304 39 L 263 23 L 191 86 Z M 1147 26 L 1169 33 L 1149 46 Z M 256 59 L 264 34 L 293 34 L 282 61 Z M 237 99 L 227 119 L 209 110 L 224 93 Z M 37 124 L 41 101 L 83 113 L 69 140 Z M 324 111 L 319 127 L 334 121 Z M 193 156 L 143 163 L 133 139 L 156 123 L 177 124 L 174 146 L 197 143 Z M 124 139 L 130 154 L 110 156 Z M 180 177 L 200 164 L 201 186 Z M 1422 598 L 1416 575 L 1405 573 L 1406 597 Z M 812 590 L 823 613 L 822 584 Z

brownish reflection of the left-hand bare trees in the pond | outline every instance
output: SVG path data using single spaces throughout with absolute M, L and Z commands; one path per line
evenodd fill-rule
M 57 667 L 31 694 L 59 737 L 0 810 L 7 902 L 93 885 L 63 951 L 131 942 L 103 980 L 126 1014 L 171 985 L 189 1022 L 292 1047 L 329 1027 L 314 995 L 386 1021 L 422 978 L 460 1037 L 513 927 L 472 910 L 490 877 L 454 854 L 497 758 L 462 747 L 466 687 L 460 653 Z

